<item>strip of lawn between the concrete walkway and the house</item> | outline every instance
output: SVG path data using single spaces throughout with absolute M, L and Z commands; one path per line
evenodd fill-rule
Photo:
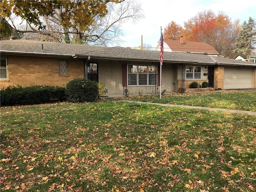
M 214 91 L 197 94 L 162 95 L 161 99 L 159 95 L 126 97 L 125 99 L 256 112 L 255 91 Z

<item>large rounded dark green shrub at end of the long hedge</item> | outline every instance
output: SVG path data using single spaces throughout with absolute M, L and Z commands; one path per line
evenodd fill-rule
M 93 102 L 99 94 L 97 82 L 76 78 L 66 85 L 67 100 L 70 102 Z

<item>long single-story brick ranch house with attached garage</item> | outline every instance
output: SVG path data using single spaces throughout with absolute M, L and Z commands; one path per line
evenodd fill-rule
M 32 40 L 0 42 L 0 88 L 66 86 L 74 78 L 103 82 L 108 95 L 160 93 L 159 51 Z M 228 58 L 164 52 L 162 90 L 184 92 L 196 81 L 215 89 L 256 88 L 256 66 Z

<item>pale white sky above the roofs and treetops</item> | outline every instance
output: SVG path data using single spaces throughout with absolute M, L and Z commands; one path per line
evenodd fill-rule
M 239 19 L 240 24 L 248 22 L 249 17 L 256 20 L 256 0 L 140 0 L 144 19 L 136 24 L 127 22 L 122 25 L 124 36 L 122 47 L 138 47 L 149 44 L 155 48 L 160 39 L 160 27 L 164 28 L 172 21 L 183 27 L 185 21 L 198 12 L 212 10 L 215 14 L 222 11 L 232 21 Z

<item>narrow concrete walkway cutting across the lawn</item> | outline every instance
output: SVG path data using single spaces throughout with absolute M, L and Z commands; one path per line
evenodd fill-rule
M 131 100 L 119 100 L 119 101 L 120 102 L 128 102 L 128 103 L 140 103 L 140 104 L 150 104 L 150 105 L 159 105 L 159 106 L 181 107 L 181 108 L 190 108 L 190 109 L 202 109 L 202 110 L 210 110 L 210 111 L 224 111 L 224 112 L 229 112 L 229 113 L 242 113 L 242 114 L 256 115 L 256 112 L 233 110 L 233 109 L 220 109 L 220 108 L 198 107 L 198 106 L 189 106 L 189 105 L 150 103 L 150 102 L 140 102 L 140 101 L 131 101 Z

